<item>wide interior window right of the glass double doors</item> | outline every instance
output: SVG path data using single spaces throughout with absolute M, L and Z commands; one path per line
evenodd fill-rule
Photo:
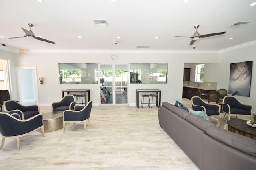
M 145 63 L 130 64 L 130 83 L 167 83 L 168 64 Z

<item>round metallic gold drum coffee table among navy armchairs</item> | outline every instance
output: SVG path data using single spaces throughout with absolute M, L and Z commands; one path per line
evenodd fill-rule
M 52 132 L 63 128 L 63 111 L 50 111 L 42 113 L 44 132 Z M 40 129 L 38 131 L 41 132 Z

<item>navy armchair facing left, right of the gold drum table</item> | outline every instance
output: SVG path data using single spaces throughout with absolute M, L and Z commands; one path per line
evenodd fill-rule
M 92 100 L 86 106 L 76 105 L 74 110 L 66 110 L 63 112 L 63 133 L 65 132 L 66 123 L 84 123 L 86 131 L 86 121 L 91 124 L 90 114 L 92 109 Z

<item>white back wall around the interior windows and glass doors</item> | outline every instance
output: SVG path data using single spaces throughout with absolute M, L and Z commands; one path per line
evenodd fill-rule
M 115 61 L 110 59 L 116 54 Z M 184 62 L 218 62 L 218 53 L 16 53 L 16 66 L 37 67 L 37 76 L 44 77 L 44 84 L 38 84 L 39 104 L 50 104 L 61 99 L 63 89 L 90 89 L 90 98 L 94 104 L 100 103 L 98 84 L 59 84 L 58 63 L 168 63 L 168 84 L 129 84 L 128 103 L 136 105 L 136 89 L 159 88 L 162 90 L 162 102 L 182 101 Z M 39 82 L 38 82 L 39 83 Z

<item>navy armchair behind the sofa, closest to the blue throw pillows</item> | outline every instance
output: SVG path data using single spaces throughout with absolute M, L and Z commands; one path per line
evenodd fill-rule
M 208 117 L 218 116 L 218 125 L 220 125 L 220 105 L 206 103 L 199 96 L 193 96 L 191 102 L 193 110 L 203 110 Z

